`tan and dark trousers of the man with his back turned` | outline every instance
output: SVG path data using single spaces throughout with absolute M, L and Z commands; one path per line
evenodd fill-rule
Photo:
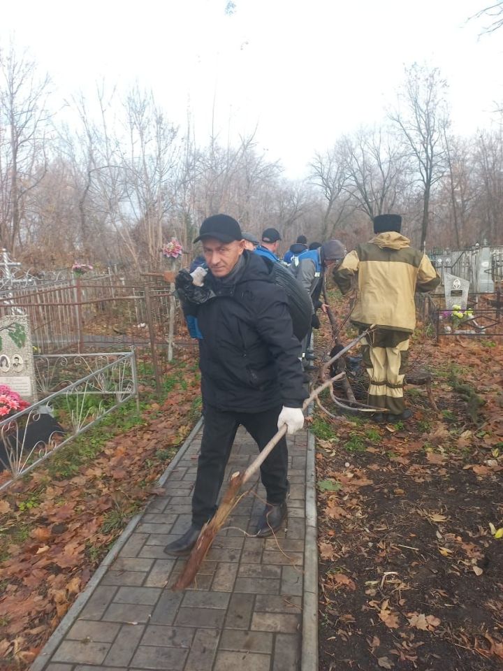
M 362 340 L 363 363 L 370 377 L 368 403 L 391 414 L 405 410 L 404 377 L 409 359 L 409 333 L 376 329 Z

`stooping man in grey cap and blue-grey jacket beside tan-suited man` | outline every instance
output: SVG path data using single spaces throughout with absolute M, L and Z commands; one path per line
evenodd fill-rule
M 295 266 L 292 266 L 298 282 L 305 288 L 311 296 L 313 304 L 312 326 L 319 329 L 319 319 L 316 316 L 316 310 L 321 308 L 326 311 L 324 303 L 320 300 L 321 289 L 323 288 L 323 274 L 328 268 L 333 268 L 335 264 L 340 264 L 346 254 L 346 249 L 340 240 L 327 240 L 317 250 L 308 250 L 302 252 L 297 259 Z M 314 354 L 307 354 L 307 347 L 311 340 L 311 331 L 307 333 L 302 340 L 302 363 L 306 359 L 314 359 Z

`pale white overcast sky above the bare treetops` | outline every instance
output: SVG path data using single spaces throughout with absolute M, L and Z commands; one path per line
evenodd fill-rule
M 404 64 L 437 66 L 455 130 L 472 134 L 503 101 L 503 28 L 469 17 L 490 0 L 24 0 L 3 3 L 0 41 L 29 48 L 62 98 L 96 80 L 154 89 L 196 140 L 257 127 L 286 175 L 360 124 L 379 123 Z

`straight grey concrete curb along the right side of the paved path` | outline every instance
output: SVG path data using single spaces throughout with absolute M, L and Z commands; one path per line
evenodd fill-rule
M 308 415 L 312 415 L 312 406 L 309 407 Z M 316 440 L 311 431 L 308 430 L 301 671 L 318 671 L 318 524 L 316 514 L 315 456 Z

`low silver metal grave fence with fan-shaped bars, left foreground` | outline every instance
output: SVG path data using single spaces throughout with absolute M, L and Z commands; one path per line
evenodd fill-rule
M 138 407 L 134 351 L 36 356 L 35 368 L 41 400 L 0 422 L 0 491 L 130 398 Z

